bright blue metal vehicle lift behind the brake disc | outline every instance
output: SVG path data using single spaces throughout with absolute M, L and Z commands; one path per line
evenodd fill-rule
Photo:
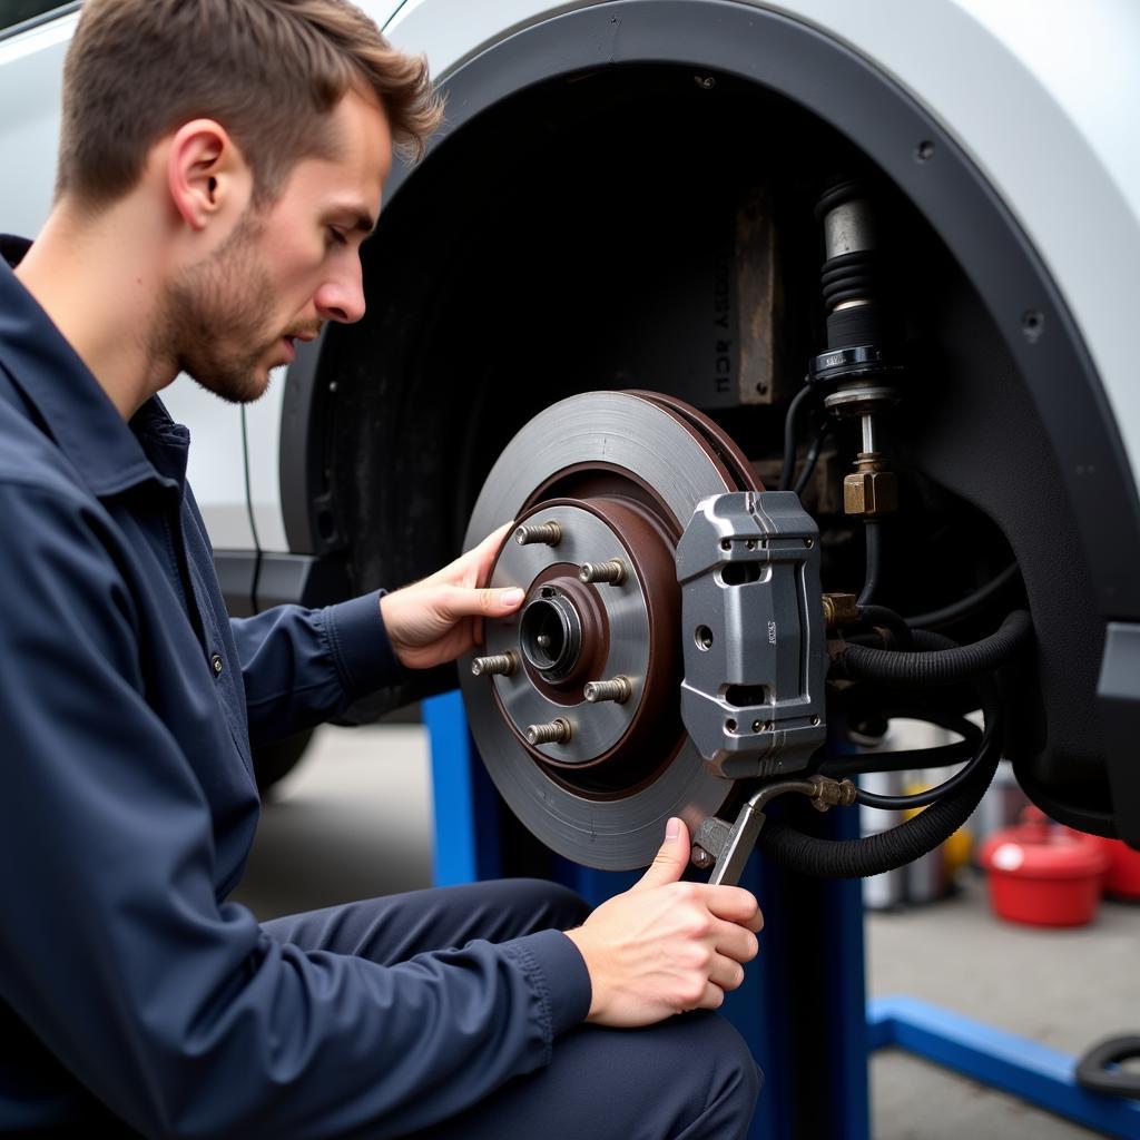
M 467 731 L 463 699 L 423 703 L 431 738 L 438 886 L 504 874 L 562 882 L 597 904 L 637 872 L 595 871 L 551 855 L 502 804 Z M 814 816 L 814 819 L 812 819 Z M 854 812 L 797 819 L 821 836 L 857 834 Z M 1074 1059 L 912 997 L 865 996 L 862 886 L 749 861 L 741 886 L 771 921 L 760 954 L 723 1012 L 766 1082 L 750 1140 L 869 1140 L 868 1058 L 905 1049 L 1105 1135 L 1140 1140 L 1140 1104 L 1080 1088 Z

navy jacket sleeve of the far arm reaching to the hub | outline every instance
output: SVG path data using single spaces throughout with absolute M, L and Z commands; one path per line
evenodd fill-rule
M 358 698 L 400 683 L 404 668 L 380 597 L 376 591 L 319 610 L 278 605 L 229 619 L 252 744 L 320 724 Z

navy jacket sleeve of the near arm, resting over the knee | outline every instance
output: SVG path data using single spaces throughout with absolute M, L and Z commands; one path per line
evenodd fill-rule
M 146 702 L 99 520 L 0 483 L 21 536 L 0 547 L 0 997 L 148 1137 L 399 1135 L 545 1065 L 589 1005 L 564 935 L 381 967 L 215 901 L 210 812 Z

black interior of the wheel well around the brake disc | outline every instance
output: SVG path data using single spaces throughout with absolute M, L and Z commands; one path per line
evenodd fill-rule
M 689 399 L 771 466 L 788 397 L 822 341 L 812 205 L 821 181 L 852 165 L 889 219 L 883 244 L 919 363 L 893 433 L 906 524 L 883 595 L 904 612 L 931 609 L 1018 560 L 1039 653 L 1034 682 L 1015 694 L 1009 750 L 1060 797 L 1059 814 L 1102 828 L 1102 592 L 1040 384 L 1011 350 L 1005 314 L 905 188 L 821 116 L 747 78 L 681 63 L 559 74 L 454 127 L 404 176 L 367 247 L 368 314 L 331 329 L 321 356 L 328 396 L 310 431 L 321 437 L 326 545 L 343 549 L 357 588 L 430 572 L 458 552 L 513 433 L 591 389 Z M 750 205 L 776 247 L 772 390 L 741 392 L 738 344 L 726 397 L 716 320 L 727 272 L 736 339 L 749 335 L 739 237 Z M 1058 339 L 1060 325 L 1050 319 Z M 846 470 L 856 441 L 840 433 L 837 446 Z M 850 588 L 861 539 L 841 514 L 826 521 L 824 586 Z

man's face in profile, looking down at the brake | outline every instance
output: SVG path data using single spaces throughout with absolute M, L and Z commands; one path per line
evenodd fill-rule
M 360 243 L 392 162 L 384 113 L 350 91 L 329 115 L 333 157 L 303 158 L 269 206 L 251 206 L 204 261 L 169 285 L 157 353 L 222 399 L 255 400 L 293 341 L 364 316 Z

